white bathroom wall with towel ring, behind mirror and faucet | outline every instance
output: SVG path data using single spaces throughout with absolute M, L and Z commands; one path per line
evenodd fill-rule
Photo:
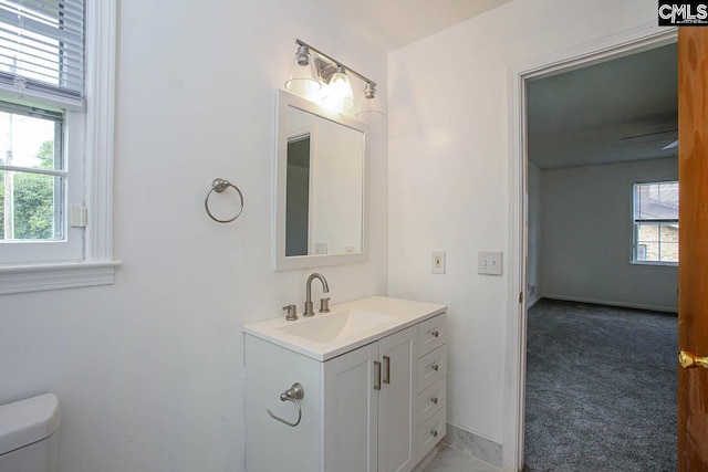
M 293 40 L 383 84 L 386 55 L 308 0 L 118 3 L 123 265 L 112 286 L 0 297 L 0 403 L 56 392 L 61 472 L 240 471 L 241 326 L 302 310 L 313 272 L 271 269 L 275 96 Z M 367 141 L 372 254 L 322 269 L 333 304 L 387 289 L 386 123 Z M 204 210 L 215 177 L 243 192 L 231 224 Z

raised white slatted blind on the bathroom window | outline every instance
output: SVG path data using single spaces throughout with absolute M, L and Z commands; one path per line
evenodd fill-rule
M 0 88 L 83 107 L 84 0 L 0 0 Z

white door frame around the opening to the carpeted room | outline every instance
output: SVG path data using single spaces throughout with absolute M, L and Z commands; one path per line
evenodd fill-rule
M 584 67 L 677 41 L 676 28 L 656 22 L 604 35 L 589 43 L 509 69 L 510 235 L 503 470 L 523 468 L 527 361 L 528 155 L 525 81 Z M 522 294 L 520 296 L 520 294 Z M 521 302 L 520 302 L 521 300 Z

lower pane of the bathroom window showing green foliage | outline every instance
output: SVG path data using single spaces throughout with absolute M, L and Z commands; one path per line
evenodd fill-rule
M 3 240 L 60 240 L 63 237 L 63 179 L 3 172 Z

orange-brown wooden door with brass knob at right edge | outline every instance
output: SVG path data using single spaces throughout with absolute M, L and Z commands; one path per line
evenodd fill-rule
M 678 31 L 678 470 L 708 470 L 708 28 Z M 708 359 L 706 359 L 708 360 Z

